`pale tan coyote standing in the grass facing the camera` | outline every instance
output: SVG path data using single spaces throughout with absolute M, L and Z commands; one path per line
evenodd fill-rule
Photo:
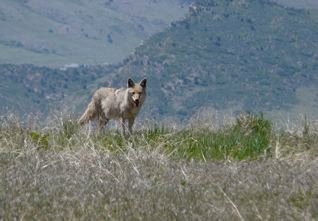
M 78 123 L 83 125 L 97 118 L 100 130 L 110 119 L 121 119 L 123 134 L 125 135 L 126 121 L 128 121 L 128 130 L 131 134 L 135 118 L 146 99 L 146 83 L 147 79 L 135 84 L 129 78 L 127 88 L 98 89 Z

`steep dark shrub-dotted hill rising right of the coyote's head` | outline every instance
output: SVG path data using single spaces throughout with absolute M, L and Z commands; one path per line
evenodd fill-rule
M 197 1 L 185 20 L 136 49 L 115 82 L 149 78 L 152 115 L 198 108 L 291 111 L 312 86 L 317 107 L 318 25 L 269 1 Z M 309 92 L 308 92 L 309 93 Z

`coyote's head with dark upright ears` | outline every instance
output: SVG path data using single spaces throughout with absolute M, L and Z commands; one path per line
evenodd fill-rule
M 138 84 L 135 84 L 132 79 L 128 79 L 128 99 L 136 107 L 142 105 L 146 98 L 146 83 L 147 79 L 143 79 Z

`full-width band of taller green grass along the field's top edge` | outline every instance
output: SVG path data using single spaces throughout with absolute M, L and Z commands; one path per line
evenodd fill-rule
M 188 161 L 284 158 L 305 152 L 310 156 L 317 155 L 318 135 L 309 122 L 300 133 L 273 130 L 272 123 L 262 115 L 242 116 L 231 125 L 219 129 L 172 129 L 157 125 L 145 128 L 135 130 L 131 136 L 122 136 L 120 131 L 109 128 L 101 133 L 92 129 L 89 134 L 71 118 L 65 118 L 52 128 L 27 128 L 19 122 L 11 122 L 0 128 L 0 143 L 5 144 L 3 149 L 21 149 L 30 143 L 42 151 L 87 147 L 122 154 L 133 149 Z

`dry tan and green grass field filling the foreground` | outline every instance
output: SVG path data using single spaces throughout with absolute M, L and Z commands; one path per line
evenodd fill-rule
M 315 122 L 242 116 L 126 138 L 69 117 L 39 125 L 1 119 L 0 220 L 318 219 Z

